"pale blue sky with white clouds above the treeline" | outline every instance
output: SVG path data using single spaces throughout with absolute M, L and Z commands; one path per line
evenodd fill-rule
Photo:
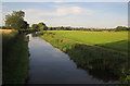
M 2 2 L 2 19 L 20 10 L 30 25 L 43 22 L 48 26 L 128 26 L 128 2 Z

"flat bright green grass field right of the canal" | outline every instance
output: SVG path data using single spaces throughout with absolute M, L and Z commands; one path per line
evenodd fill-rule
M 82 44 L 90 44 L 112 48 L 116 50 L 128 50 L 128 32 L 81 32 L 81 30 L 49 30 L 56 36 L 76 40 Z

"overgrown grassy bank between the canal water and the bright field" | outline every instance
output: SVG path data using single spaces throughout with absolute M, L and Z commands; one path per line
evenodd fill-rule
M 109 50 L 102 47 L 87 45 L 84 44 L 84 41 L 87 41 L 86 36 L 81 36 L 82 33 L 83 32 L 79 34 L 79 37 L 80 39 L 84 39 L 83 41 L 70 38 L 70 34 L 65 35 L 64 33 L 60 32 L 51 32 L 50 34 L 44 34 L 41 36 L 41 38 L 49 41 L 62 51 L 68 53 L 70 59 L 76 62 L 77 66 L 88 70 L 88 73 L 93 77 L 102 79 L 104 82 L 120 81 L 120 83 L 125 84 L 130 83 L 128 54 L 120 53 L 118 51 L 118 49 L 122 48 L 118 47 L 117 50 Z M 72 33 L 72 36 L 74 34 Z

